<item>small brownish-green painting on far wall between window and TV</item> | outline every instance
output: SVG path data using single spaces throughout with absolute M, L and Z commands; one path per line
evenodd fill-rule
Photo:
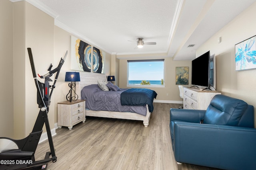
M 176 67 L 176 84 L 188 85 L 188 67 Z

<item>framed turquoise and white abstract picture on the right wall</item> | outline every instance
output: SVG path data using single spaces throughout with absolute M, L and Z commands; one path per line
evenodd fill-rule
M 256 68 L 256 35 L 235 45 L 236 71 Z

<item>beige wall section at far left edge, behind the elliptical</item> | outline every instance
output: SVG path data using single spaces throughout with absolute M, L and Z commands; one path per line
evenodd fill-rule
M 13 19 L 12 2 L 0 1 L 0 137 L 13 137 Z

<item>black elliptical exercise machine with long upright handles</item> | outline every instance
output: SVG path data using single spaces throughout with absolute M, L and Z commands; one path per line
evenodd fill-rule
M 43 76 L 38 74 L 40 78 L 44 78 L 44 83 L 41 83 L 37 79 L 31 48 L 28 48 L 28 55 L 37 89 L 37 104 L 40 111 L 32 132 L 26 138 L 15 140 L 7 137 L 0 137 L 0 170 L 45 170 L 48 162 L 57 161 L 48 120 L 48 111 L 52 92 L 55 88 L 60 69 L 66 59 L 67 54 L 68 51 L 66 51 L 64 59 L 60 59 L 60 63 L 54 70 L 51 70 L 52 64 L 50 64 L 47 69 L 49 71 L 47 74 Z M 53 85 L 50 85 L 49 82 L 52 81 L 50 77 L 54 73 L 56 73 L 55 80 Z M 34 154 L 36 152 L 39 139 L 42 135 L 42 128 L 44 124 L 50 145 L 50 152 L 46 152 L 43 160 L 35 161 Z

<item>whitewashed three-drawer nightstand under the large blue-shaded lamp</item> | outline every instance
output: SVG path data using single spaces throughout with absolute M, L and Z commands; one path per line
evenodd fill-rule
M 68 127 L 72 129 L 73 125 L 83 121 L 85 122 L 85 100 L 76 100 L 74 102 L 58 103 L 58 127 Z

